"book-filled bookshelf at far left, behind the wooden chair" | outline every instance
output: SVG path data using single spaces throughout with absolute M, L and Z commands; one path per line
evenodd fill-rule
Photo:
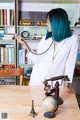
M 16 0 L 0 0 L 0 69 L 17 67 Z M 0 84 L 16 84 L 17 78 L 0 78 Z

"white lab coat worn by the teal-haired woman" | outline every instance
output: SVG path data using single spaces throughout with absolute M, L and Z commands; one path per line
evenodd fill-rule
M 52 38 L 40 41 L 37 53 L 44 52 L 51 44 Z M 78 52 L 78 37 L 71 37 L 60 42 L 54 51 L 54 42 L 50 49 L 42 55 L 29 53 L 27 57 L 34 62 L 30 77 L 30 86 L 43 86 L 43 81 L 55 76 L 68 75 L 72 83 L 74 67 Z

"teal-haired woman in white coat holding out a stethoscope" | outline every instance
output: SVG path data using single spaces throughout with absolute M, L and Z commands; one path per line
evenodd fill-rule
M 47 14 L 47 34 L 41 39 L 37 54 L 28 50 L 27 57 L 34 62 L 30 86 L 42 86 L 45 79 L 68 75 L 73 80 L 74 67 L 78 52 L 78 38 L 70 30 L 66 11 L 62 8 L 52 9 Z M 18 43 L 24 44 L 19 36 Z

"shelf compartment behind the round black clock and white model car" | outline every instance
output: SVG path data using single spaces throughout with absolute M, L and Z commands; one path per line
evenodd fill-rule
M 25 40 L 30 40 L 32 41 L 32 37 L 34 37 L 37 41 L 41 39 L 41 36 L 44 36 L 46 31 L 47 31 L 47 27 L 46 26 L 18 26 L 18 34 L 22 36 L 23 32 L 27 32 L 28 36 L 26 38 L 24 38 Z M 37 39 L 40 38 L 40 39 Z M 33 40 L 34 42 L 36 40 Z

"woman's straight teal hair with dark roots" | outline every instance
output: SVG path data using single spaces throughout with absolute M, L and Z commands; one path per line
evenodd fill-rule
M 52 9 L 48 12 L 51 25 L 51 36 L 47 31 L 46 39 L 52 37 L 54 41 L 60 42 L 68 37 L 71 37 L 72 32 L 70 30 L 70 21 L 68 19 L 67 12 L 62 8 Z

